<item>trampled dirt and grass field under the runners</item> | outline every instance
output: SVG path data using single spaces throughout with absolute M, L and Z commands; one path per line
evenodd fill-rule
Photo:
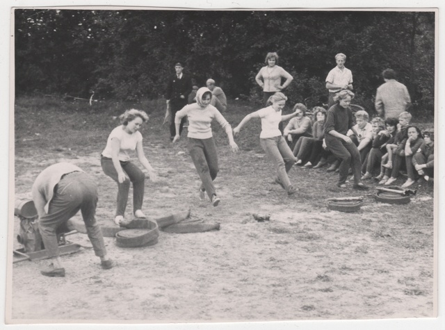
M 15 140 L 15 197 L 31 197 L 31 185 L 41 170 L 69 161 L 95 176 L 97 219 L 112 226 L 117 187 L 102 172 L 99 154 L 117 122 L 107 115 L 106 124 L 97 127 L 95 114 L 17 109 L 16 120 L 23 122 Z M 237 110 L 226 115 L 232 124 L 254 109 Z M 42 120 L 51 120 L 54 129 L 38 124 L 39 116 L 51 118 Z M 47 261 L 12 265 L 13 322 L 433 316 L 431 185 L 416 183 L 411 203 L 394 206 L 374 200 L 375 183 L 369 192 L 341 191 L 334 186 L 338 174 L 295 167 L 289 176 L 300 190 L 288 197 L 271 179 L 273 167 L 255 131 L 259 123 L 252 122 L 237 140 L 238 154 L 229 151 L 223 131 L 214 130 L 220 160 L 216 190 L 221 198 L 214 208 L 197 197 L 200 182 L 186 138 L 171 145 L 162 119 L 161 112 L 153 113 L 143 131 L 147 158 L 159 174 L 158 182 L 146 182 L 145 213 L 156 216 L 190 208 L 192 217 L 220 222 L 220 230 L 161 232 L 156 245 L 130 249 L 105 238 L 116 264 L 111 270 L 99 267 L 86 235 L 68 236 L 83 248 L 63 256 L 66 277 L 41 276 L 39 268 Z M 401 183 L 403 179 L 397 181 Z M 360 195 L 364 205 L 357 213 L 329 211 L 325 206 L 330 197 Z M 128 216 L 131 209 L 130 199 Z M 252 213 L 268 213 L 270 221 L 257 222 Z M 81 221 L 80 215 L 76 220 Z M 10 221 L 17 231 L 17 217 Z

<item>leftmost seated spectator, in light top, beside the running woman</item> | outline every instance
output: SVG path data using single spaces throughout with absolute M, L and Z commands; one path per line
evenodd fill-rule
M 304 104 L 298 103 L 293 106 L 293 111 L 297 113 L 297 117 L 289 120 L 289 123 L 284 128 L 284 138 L 288 141 L 289 147 L 293 150 L 302 136 L 312 138 L 312 121 L 307 117 L 307 108 Z

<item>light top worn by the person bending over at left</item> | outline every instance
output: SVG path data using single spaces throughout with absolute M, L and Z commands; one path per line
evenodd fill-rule
M 83 172 L 80 167 L 70 163 L 56 163 L 44 169 L 35 179 L 32 194 L 39 217 L 48 214 L 49 202 L 54 196 L 54 187 L 63 174 Z

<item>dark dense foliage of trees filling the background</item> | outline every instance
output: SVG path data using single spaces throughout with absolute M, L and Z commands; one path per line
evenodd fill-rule
M 372 112 L 391 67 L 413 111 L 433 113 L 434 12 L 15 10 L 17 95 L 154 99 L 181 60 L 197 85 L 212 77 L 229 97 L 254 99 L 268 51 L 294 76 L 286 91 L 293 102 L 326 96 L 325 77 L 342 52 L 356 103 Z

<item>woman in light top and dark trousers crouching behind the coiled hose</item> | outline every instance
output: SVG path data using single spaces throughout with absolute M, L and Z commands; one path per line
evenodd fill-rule
M 156 173 L 145 157 L 142 145 L 143 136 L 139 132 L 148 115 L 142 110 L 131 109 L 119 116 L 120 126 L 111 131 L 102 151 L 101 165 L 104 173 L 118 183 L 117 209 L 115 224 L 124 220 L 125 208 L 133 183 L 133 214 L 135 217 L 145 217 L 142 211 L 145 188 L 145 174 L 130 161 L 130 151 L 135 151 L 140 163 L 148 171 L 149 179 L 156 181 Z

